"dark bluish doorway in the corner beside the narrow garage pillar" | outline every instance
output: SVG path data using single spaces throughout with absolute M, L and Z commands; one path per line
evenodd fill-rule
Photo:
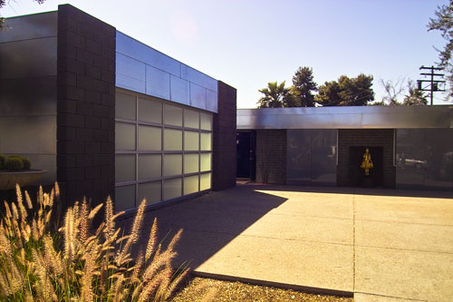
M 255 180 L 255 132 L 236 132 L 236 177 Z

